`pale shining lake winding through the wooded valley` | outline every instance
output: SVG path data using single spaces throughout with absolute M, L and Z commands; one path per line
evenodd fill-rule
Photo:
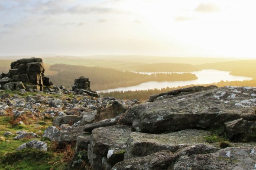
M 155 72 L 139 72 L 141 74 L 152 74 Z M 167 72 L 164 72 L 167 73 Z M 171 72 L 170 72 L 171 73 Z M 184 73 L 184 72 L 177 72 L 177 73 Z M 197 85 L 197 84 L 210 84 L 214 82 L 220 82 L 223 80 L 224 82 L 227 81 L 243 81 L 243 80 L 252 80 L 252 77 L 245 77 L 245 76 L 232 76 L 229 75 L 230 72 L 219 71 L 214 69 L 204 69 L 202 71 L 191 72 L 195 74 L 198 79 L 197 80 L 189 80 L 189 81 L 176 81 L 176 82 L 146 82 L 140 85 L 130 86 L 130 87 L 122 87 L 122 88 L 113 88 L 107 90 L 101 90 L 97 92 L 110 92 L 110 91 L 128 91 L 128 90 L 148 90 L 154 88 L 166 88 L 166 87 L 178 87 L 184 85 Z

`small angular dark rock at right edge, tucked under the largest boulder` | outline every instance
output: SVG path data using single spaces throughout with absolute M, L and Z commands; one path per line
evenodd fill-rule
M 256 127 L 256 123 L 243 119 L 233 120 L 225 123 L 227 134 L 240 135 L 252 132 L 252 127 Z

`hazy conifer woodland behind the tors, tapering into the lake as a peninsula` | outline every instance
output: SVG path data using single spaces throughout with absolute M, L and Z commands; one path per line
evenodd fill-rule
M 91 89 L 94 91 L 118 87 L 129 87 L 144 82 L 164 81 L 187 81 L 198 79 L 191 73 L 156 73 L 152 75 L 139 74 L 136 72 L 122 72 L 115 69 L 103 67 L 74 66 L 67 64 L 54 64 L 50 70 L 58 71 L 57 74 L 49 76 L 54 85 L 64 85 L 70 89 L 74 80 L 85 76 L 91 80 Z

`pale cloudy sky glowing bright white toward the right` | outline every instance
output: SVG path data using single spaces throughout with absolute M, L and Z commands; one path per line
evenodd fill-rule
M 0 56 L 256 57 L 254 0 L 0 0 Z

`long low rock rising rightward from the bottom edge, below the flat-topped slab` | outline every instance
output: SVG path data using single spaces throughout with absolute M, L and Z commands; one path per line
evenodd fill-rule
M 146 157 L 137 157 L 133 160 L 119 162 L 111 170 L 167 170 L 180 157 L 211 153 L 217 150 L 218 148 L 212 147 L 211 145 L 197 144 L 180 149 L 176 153 L 167 150 L 159 151 Z

